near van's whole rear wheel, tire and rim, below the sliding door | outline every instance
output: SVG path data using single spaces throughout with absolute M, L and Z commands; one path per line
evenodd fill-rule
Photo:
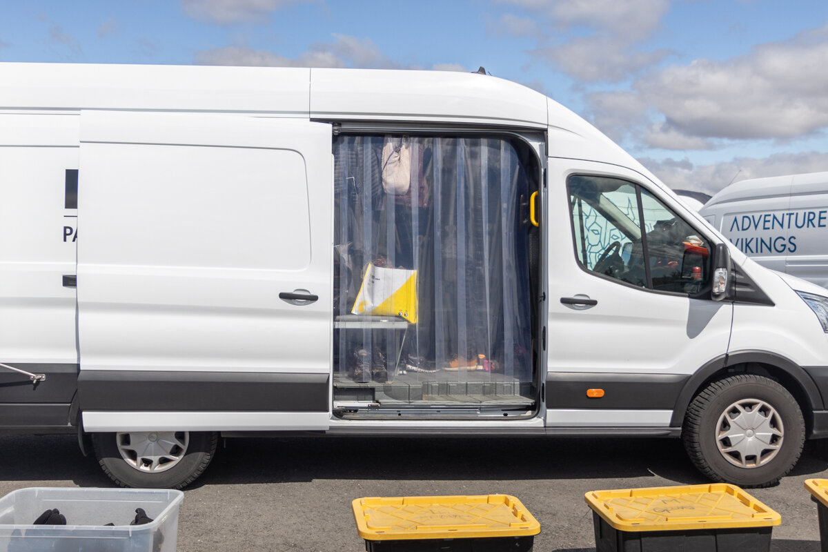
M 186 487 L 205 471 L 218 442 L 218 434 L 194 431 L 92 435 L 103 472 L 121 487 Z

